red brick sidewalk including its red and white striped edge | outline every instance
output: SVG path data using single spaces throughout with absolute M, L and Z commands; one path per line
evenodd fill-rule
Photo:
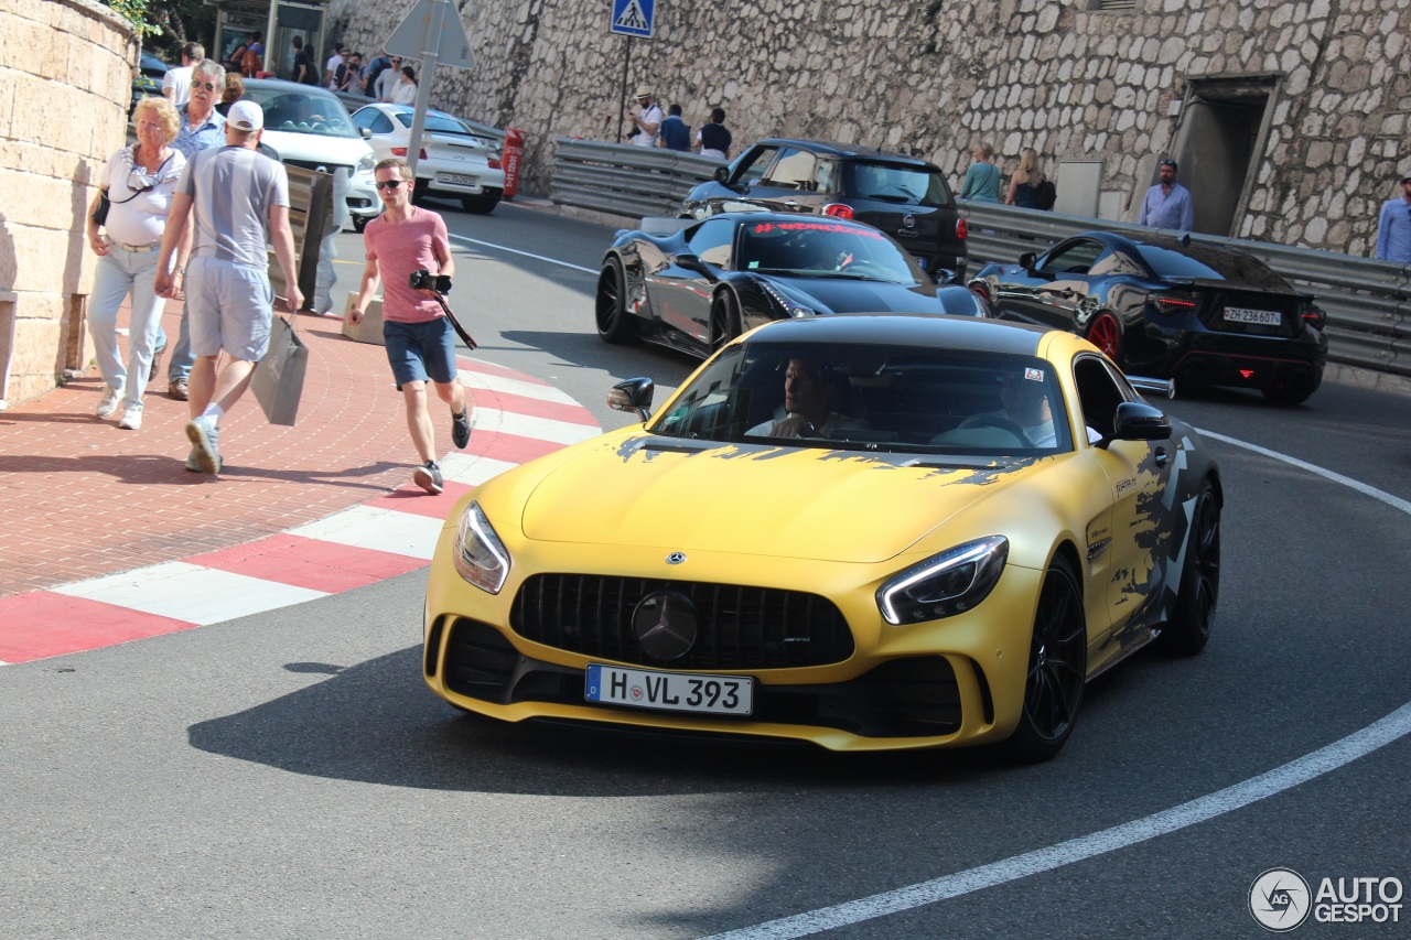
M 168 302 L 171 337 L 179 313 Z M 247 392 L 222 421 L 219 477 L 182 466 L 186 402 L 166 395 L 166 356 L 140 430 L 117 428 L 121 409 L 93 415 L 96 368 L 0 412 L 0 662 L 217 622 L 412 570 L 471 486 L 597 432 L 590 412 L 550 385 L 461 358 L 476 430 L 443 462 L 446 491 L 428 495 L 411 483 L 416 453 L 382 347 L 344 337 L 334 318 L 301 315 L 296 329 L 309 346 L 298 425 L 267 423 Z M 120 346 L 126 356 L 126 337 Z M 443 412 L 435 399 L 437 446 L 449 452 Z M 361 515 L 337 524 L 350 510 Z M 213 570 L 257 583 L 212 580 Z M 262 586 L 293 593 L 262 597 Z

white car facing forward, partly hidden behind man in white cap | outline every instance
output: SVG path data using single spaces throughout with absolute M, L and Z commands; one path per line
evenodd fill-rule
M 333 174 L 333 192 L 341 193 L 347 206 L 347 215 L 334 210 L 337 226 L 351 217 L 361 231 L 382 212 L 373 176 L 377 158 L 337 96 L 313 85 L 246 79 L 246 97 L 264 110 L 261 141 L 285 164 Z

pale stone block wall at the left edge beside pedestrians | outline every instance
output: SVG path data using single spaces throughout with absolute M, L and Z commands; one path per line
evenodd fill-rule
M 92 357 L 83 217 L 123 145 L 137 45 L 90 0 L 0 0 L 0 408 Z

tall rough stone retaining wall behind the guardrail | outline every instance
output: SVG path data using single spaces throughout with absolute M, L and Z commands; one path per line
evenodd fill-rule
M 477 66 L 439 69 L 432 100 L 525 130 L 529 191 L 547 188 L 555 138 L 615 138 L 625 40 L 608 34 L 608 3 L 457 6 Z M 1182 176 L 1198 198 L 1213 179 L 1202 174 L 1222 172 L 1194 121 L 1182 133 L 1202 83 L 1263 82 L 1267 107 L 1249 128 L 1256 151 L 1221 189 L 1225 233 L 1370 254 L 1380 203 L 1411 169 L 1411 3 L 1133 0 L 1098 10 L 1116 6 L 659 0 L 655 37 L 632 42 L 626 85 L 682 102 L 693 126 L 724 107 L 737 144 L 777 134 L 876 144 L 927 157 L 957 182 L 981 138 L 1006 171 L 1023 147 L 1048 167 L 1101 161 L 1101 215 L 1132 219 L 1168 151 L 1187 157 Z M 406 8 L 332 0 L 327 34 L 371 54 Z

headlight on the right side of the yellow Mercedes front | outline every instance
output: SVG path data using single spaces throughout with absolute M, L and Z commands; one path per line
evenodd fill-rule
M 878 610 L 897 625 L 962 614 L 989 597 L 1006 559 L 1003 535 L 957 545 L 888 580 L 878 589 Z

